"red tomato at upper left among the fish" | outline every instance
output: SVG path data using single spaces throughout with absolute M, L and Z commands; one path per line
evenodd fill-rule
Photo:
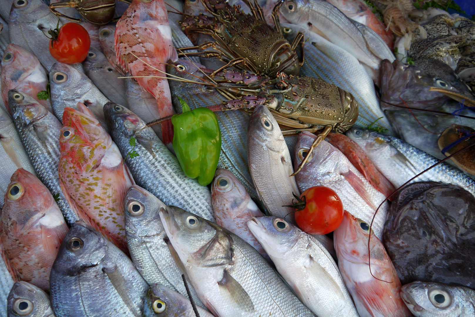
M 82 25 L 69 22 L 59 31 L 49 31 L 53 36 L 49 40 L 49 52 L 58 62 L 65 64 L 81 63 L 86 59 L 91 39 Z

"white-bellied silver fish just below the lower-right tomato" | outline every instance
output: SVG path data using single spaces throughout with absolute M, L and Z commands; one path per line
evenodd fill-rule
M 330 253 L 314 236 L 277 217 L 252 217 L 249 230 L 297 297 L 319 317 L 359 317 Z

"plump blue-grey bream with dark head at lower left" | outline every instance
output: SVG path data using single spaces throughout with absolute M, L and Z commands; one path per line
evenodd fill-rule
M 79 221 L 71 226 L 51 268 L 56 317 L 140 317 L 147 289 L 132 261 L 101 233 Z

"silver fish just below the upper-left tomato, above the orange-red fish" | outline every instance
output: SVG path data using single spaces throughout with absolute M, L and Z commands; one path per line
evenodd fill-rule
M 66 107 L 77 109 L 77 103 L 84 103 L 107 130 L 102 108 L 109 100 L 86 75 L 71 65 L 56 63 L 49 72 L 49 81 L 53 112 L 59 121 L 64 122 Z

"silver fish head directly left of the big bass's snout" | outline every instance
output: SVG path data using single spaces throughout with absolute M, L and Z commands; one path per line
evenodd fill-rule
M 158 211 L 163 206 L 149 191 L 131 186 L 124 198 L 126 233 L 142 237 L 161 233 L 163 225 Z

